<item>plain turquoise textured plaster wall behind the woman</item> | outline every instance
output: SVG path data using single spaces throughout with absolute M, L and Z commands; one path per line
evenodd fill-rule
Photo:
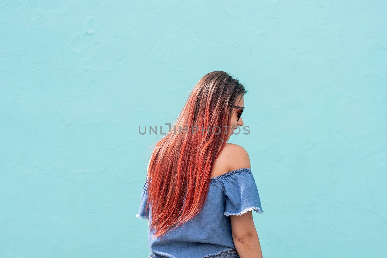
M 247 86 L 266 258 L 387 256 L 387 4 L 3 1 L 0 256 L 147 257 L 147 149 L 195 83 Z M 219 236 L 218 236 L 219 237 Z

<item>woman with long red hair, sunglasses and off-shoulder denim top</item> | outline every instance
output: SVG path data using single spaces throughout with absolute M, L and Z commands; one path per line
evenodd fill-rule
M 149 257 L 262 257 L 250 159 L 226 142 L 243 126 L 245 93 L 228 73 L 208 73 L 154 146 L 136 215 L 148 219 Z

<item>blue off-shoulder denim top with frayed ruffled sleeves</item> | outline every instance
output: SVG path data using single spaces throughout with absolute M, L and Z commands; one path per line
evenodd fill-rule
M 136 216 L 152 219 L 146 209 L 148 178 L 142 188 Z M 210 180 L 209 192 L 199 214 L 180 227 L 168 231 L 162 241 L 148 227 L 148 248 L 170 258 L 203 258 L 235 249 L 231 235 L 231 215 L 250 210 L 263 213 L 257 185 L 250 168 L 240 168 Z

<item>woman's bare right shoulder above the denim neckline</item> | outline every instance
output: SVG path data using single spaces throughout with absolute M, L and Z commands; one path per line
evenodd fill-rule
M 240 168 L 250 168 L 247 151 L 238 144 L 226 143 L 222 153 L 215 161 L 211 177 L 217 177 Z

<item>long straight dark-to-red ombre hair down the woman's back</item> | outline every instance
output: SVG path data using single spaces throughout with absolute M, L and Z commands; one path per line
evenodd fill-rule
M 207 73 L 195 85 L 170 132 L 155 144 L 147 170 L 147 207 L 151 207 L 149 226 L 156 237 L 199 213 L 214 161 L 226 144 L 226 130 L 231 129 L 232 105 L 246 92 L 238 79 L 224 71 Z

